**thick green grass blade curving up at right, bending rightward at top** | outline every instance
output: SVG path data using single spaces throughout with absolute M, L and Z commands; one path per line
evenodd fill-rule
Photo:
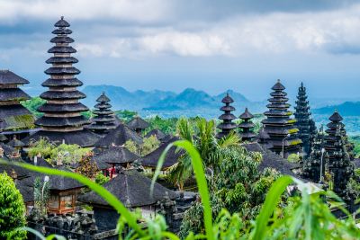
M 285 191 L 286 187 L 293 182 L 293 178 L 290 176 L 282 176 L 278 178 L 270 190 L 266 194 L 266 200 L 261 208 L 260 214 L 257 216 L 254 236 L 252 239 L 262 240 L 266 237 L 267 225 L 269 218 L 274 212 L 274 209 Z

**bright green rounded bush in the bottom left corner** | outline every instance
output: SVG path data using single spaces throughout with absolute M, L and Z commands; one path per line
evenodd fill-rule
M 0 173 L 0 239 L 26 239 L 23 196 L 13 179 Z

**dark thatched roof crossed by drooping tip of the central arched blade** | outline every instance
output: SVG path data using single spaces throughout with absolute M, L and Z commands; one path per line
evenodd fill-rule
M 155 149 L 153 152 L 149 153 L 147 156 L 141 157 L 139 160 L 139 163 L 142 164 L 143 166 L 156 168 L 158 159 L 160 158 L 161 154 L 164 152 L 167 145 L 169 145 L 172 142 L 175 142 L 176 140 L 178 140 L 178 138 L 172 138 L 167 143 L 161 144 L 160 147 L 157 147 L 157 149 Z M 163 164 L 163 168 L 167 168 L 167 167 L 170 167 L 170 166 L 176 164 L 178 162 L 180 156 L 182 156 L 184 154 L 183 151 L 181 151 L 181 150 L 177 151 L 176 148 L 177 147 L 171 147 L 170 150 L 167 152 L 165 161 Z

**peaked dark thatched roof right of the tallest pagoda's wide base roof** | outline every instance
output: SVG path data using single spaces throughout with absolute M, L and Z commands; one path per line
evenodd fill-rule
M 133 130 L 129 129 L 123 123 L 120 123 L 116 129 L 112 129 L 105 137 L 101 138 L 98 142 L 95 143 L 95 147 L 111 147 L 112 145 L 115 146 L 122 146 L 128 140 L 135 142 L 136 144 L 140 144 L 142 139 L 134 132 Z

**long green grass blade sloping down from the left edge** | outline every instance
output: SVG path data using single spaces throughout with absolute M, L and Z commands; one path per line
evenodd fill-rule
M 6 162 L 4 160 L 0 159 L 0 164 L 9 164 L 9 162 Z M 81 182 L 88 186 L 91 190 L 95 191 L 99 196 L 103 198 L 103 200 L 106 200 L 112 208 L 116 209 L 117 212 L 126 219 L 129 226 L 134 229 L 139 236 L 145 236 L 144 231 L 139 227 L 137 224 L 136 218 L 133 218 L 130 211 L 126 209 L 126 207 L 121 203 L 120 200 L 118 200 L 115 196 L 112 195 L 110 191 L 107 191 L 103 186 L 91 181 L 90 179 L 86 178 L 85 176 L 78 174 L 78 173 L 72 173 L 72 172 L 65 172 L 60 171 L 57 169 L 42 167 L 42 166 L 34 166 L 32 164 L 22 164 L 22 163 L 15 163 L 12 162 L 11 164 L 21 166 L 25 169 L 28 169 L 30 171 L 38 172 L 38 173 L 46 173 L 50 175 L 59 175 L 67 178 L 75 179 L 78 182 Z

